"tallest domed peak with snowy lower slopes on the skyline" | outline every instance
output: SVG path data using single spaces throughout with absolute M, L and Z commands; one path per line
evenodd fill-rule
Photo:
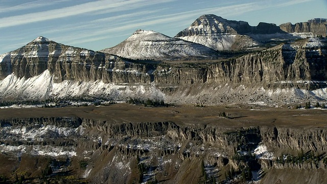
M 216 15 L 202 15 L 193 24 L 175 37 L 200 43 L 215 50 L 231 50 L 258 45 L 243 33 L 250 33 L 252 27 L 245 21 L 226 20 Z

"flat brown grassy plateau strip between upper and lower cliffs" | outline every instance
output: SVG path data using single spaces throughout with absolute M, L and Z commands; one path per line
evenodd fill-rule
M 219 116 L 225 112 L 228 118 Z M 79 117 L 112 123 L 167 122 L 201 124 L 217 127 L 325 127 L 327 109 L 289 109 L 249 106 L 179 105 L 175 107 L 144 107 L 126 103 L 109 106 L 0 109 L 1 119 L 38 117 Z

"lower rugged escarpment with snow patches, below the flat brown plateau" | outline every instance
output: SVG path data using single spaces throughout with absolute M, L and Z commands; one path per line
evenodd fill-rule
M 56 123 L 62 120 L 75 122 L 77 128 Z M 33 124 L 42 126 L 30 126 Z M 34 118 L 2 120 L 0 129 L 1 153 L 11 155 L 12 160 L 24 159 L 29 154 L 34 155 L 34 159 L 43 155 L 53 160 L 69 158 L 70 166 L 64 166 L 66 163 L 59 166 L 73 169 L 76 177 L 94 183 L 185 180 L 212 183 L 232 178 L 244 181 L 258 179 L 247 175 L 258 173 L 260 169 L 270 177 L 270 173 L 276 174 L 283 169 L 319 169 L 326 173 L 327 166 L 324 128 L 222 128 L 174 122 L 112 123 L 79 118 Z M 313 159 L 305 157 L 311 154 Z M 303 160 L 294 163 L 297 157 Z M 19 163 L 17 166 L 21 165 Z M 82 166 L 76 169 L 78 163 L 85 163 L 83 169 Z M 60 173 L 58 163 L 50 167 Z M 4 171 L 2 174 L 7 175 Z M 115 177 L 117 174 L 119 178 Z M 194 177 L 188 177 L 190 174 Z M 315 179 L 325 181 L 322 176 Z M 265 183 L 277 180 L 273 178 Z

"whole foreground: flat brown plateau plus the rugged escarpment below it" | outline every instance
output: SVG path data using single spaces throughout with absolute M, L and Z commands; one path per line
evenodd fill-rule
M 326 118 L 255 104 L 5 108 L 0 183 L 324 183 Z

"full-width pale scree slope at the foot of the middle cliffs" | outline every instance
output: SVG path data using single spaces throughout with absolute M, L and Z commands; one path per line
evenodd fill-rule
M 159 86 L 139 83 L 104 83 L 103 81 L 81 82 L 65 80 L 54 83 L 48 70 L 29 79 L 17 78 L 13 74 L 0 81 L 0 99 L 32 99 L 64 97 L 106 97 L 110 100 L 129 98 L 165 100 L 166 103 L 253 103 L 269 106 L 311 102 L 327 99 L 327 88 L 305 90 L 297 88 L 264 89 L 264 87 L 231 86 L 229 84 L 204 84 L 206 87 L 171 86 L 174 92 L 165 94 Z M 201 84 L 203 85 L 203 84 Z

